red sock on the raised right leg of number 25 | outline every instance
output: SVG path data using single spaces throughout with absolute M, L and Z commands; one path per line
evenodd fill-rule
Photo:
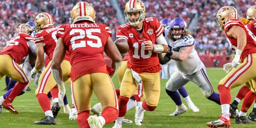
M 119 111 L 116 108 L 108 107 L 102 111 L 101 116 L 104 117 L 104 119 L 106 121 L 105 124 L 109 124 L 109 123 L 114 122 L 118 118 L 118 113 L 119 113 Z

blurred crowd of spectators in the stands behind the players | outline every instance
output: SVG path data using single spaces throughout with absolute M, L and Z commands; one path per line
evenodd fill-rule
M 56 24 L 71 23 L 70 10 L 80 0 L 3 0 L 0 1 L 0 49 L 16 33 L 21 23 L 34 21 L 40 12 L 52 15 Z M 116 0 L 123 11 L 127 0 Z M 110 0 L 87 0 L 96 10 L 96 22 L 107 24 L 112 30 L 115 40 L 116 28 L 120 25 L 116 16 L 117 8 L 113 8 Z M 222 6 L 234 6 L 239 18 L 246 18 L 246 10 L 256 5 L 254 0 L 144 0 L 146 17 L 173 19 L 182 17 L 194 28 L 192 36 L 196 40 L 196 50 L 200 55 L 232 54 L 224 32 L 215 28 L 216 12 Z M 198 14 L 199 17 L 195 17 Z M 122 14 L 120 14 L 122 15 Z M 198 18 L 196 24 L 191 24 Z

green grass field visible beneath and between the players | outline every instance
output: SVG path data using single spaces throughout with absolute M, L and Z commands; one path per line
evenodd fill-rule
M 217 86 L 218 82 L 226 75 L 222 68 L 207 68 L 207 74 L 210 78 L 212 86 L 215 92 L 218 93 Z M 119 88 L 117 77 L 113 80 L 116 88 Z M 205 98 L 199 88 L 192 82 L 189 82 L 185 87 L 188 94 L 194 104 L 200 109 L 200 112 L 195 113 L 191 110 L 188 112 L 172 117 L 169 116 L 174 110 L 176 110 L 176 105 L 170 99 L 170 97 L 165 92 L 165 84 L 167 80 L 161 80 L 161 95 L 159 104 L 153 112 L 144 113 L 144 122 L 142 126 L 136 126 L 133 124 L 122 124 L 122 128 L 207 128 L 206 122 L 214 121 L 221 113 L 221 107 Z M 5 92 L 2 89 L 5 88 L 5 78 L 0 80 L 0 96 Z M 22 96 L 15 98 L 13 106 L 18 110 L 19 114 L 11 114 L 7 110 L 3 110 L 0 114 L 0 128 L 78 128 L 75 120 L 68 120 L 68 114 L 64 114 L 63 108 L 61 108 L 58 117 L 56 118 L 56 125 L 35 125 L 34 121 L 40 120 L 45 117 L 44 112 L 40 105 L 38 104 L 37 98 L 34 95 L 35 87 L 32 83 L 29 86 L 32 90 L 27 91 Z M 241 86 L 240 86 L 241 87 Z M 234 100 L 240 87 L 231 90 L 232 100 Z M 66 86 L 68 88 L 68 86 Z M 71 107 L 71 97 L 70 92 L 66 89 L 68 101 Z M 187 106 L 184 99 L 182 99 L 184 104 Z M 93 96 L 92 106 L 98 103 L 98 99 Z M 242 102 L 239 104 L 240 109 Z M 188 107 L 188 106 L 187 106 Z M 252 107 L 248 111 L 250 113 Z M 129 110 L 126 114 L 126 118 L 134 121 L 135 108 Z M 248 117 L 248 116 L 246 116 Z M 234 119 L 231 119 L 232 128 L 255 128 L 256 123 L 252 124 L 234 124 Z M 114 123 L 106 124 L 104 128 L 112 128 Z

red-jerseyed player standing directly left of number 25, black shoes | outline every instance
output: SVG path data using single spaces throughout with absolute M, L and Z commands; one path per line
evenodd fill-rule
M 64 104 L 62 104 L 64 95 L 63 97 L 61 97 L 62 95 L 58 96 L 59 92 L 57 84 L 54 81 L 51 72 L 51 60 L 57 42 L 56 33 L 61 25 L 53 26 L 52 16 L 45 12 L 38 14 L 34 22 L 36 30 L 38 31 L 35 35 L 37 58 L 35 67 L 31 71 L 31 77 L 34 78 L 36 72 L 38 72 L 38 70 L 40 70 L 42 66 L 44 66 L 44 53 L 46 53 L 46 55 L 50 59 L 49 64 L 40 75 L 40 78 L 38 80 L 38 88 L 35 92 L 36 97 L 38 98 L 38 102 L 41 108 L 44 110 L 46 118 L 40 121 L 36 121 L 34 122 L 34 124 L 55 124 L 55 118 L 60 110 L 60 105 L 64 106 Z M 64 81 L 69 79 L 68 76 L 71 70 L 69 58 L 70 55 L 67 52 L 66 56 L 64 57 L 64 61 L 62 62 L 62 73 Z M 50 108 L 50 101 L 47 96 L 49 91 L 51 91 L 52 97 L 54 98 L 52 109 Z M 58 97 L 62 100 L 59 101 Z

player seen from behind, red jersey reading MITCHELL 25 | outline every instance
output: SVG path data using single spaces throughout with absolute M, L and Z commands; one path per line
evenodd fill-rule
M 71 12 L 73 24 L 62 25 L 57 32 L 57 46 L 52 59 L 52 74 L 60 90 L 65 90 L 60 66 L 65 51 L 70 53 L 70 78 L 77 123 L 80 128 L 102 128 L 118 117 L 117 96 L 110 74 L 120 65 L 122 56 L 113 43 L 110 28 L 94 23 L 96 12 L 87 2 L 77 3 Z M 112 60 L 109 67 L 104 52 Z M 92 91 L 100 100 L 101 116 L 90 116 Z

